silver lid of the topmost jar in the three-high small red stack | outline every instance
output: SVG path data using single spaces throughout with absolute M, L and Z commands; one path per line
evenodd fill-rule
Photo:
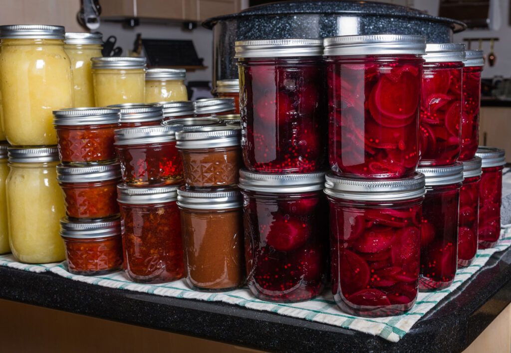
M 113 108 L 68 108 L 53 111 L 53 125 L 83 126 L 118 124 L 121 111 Z

